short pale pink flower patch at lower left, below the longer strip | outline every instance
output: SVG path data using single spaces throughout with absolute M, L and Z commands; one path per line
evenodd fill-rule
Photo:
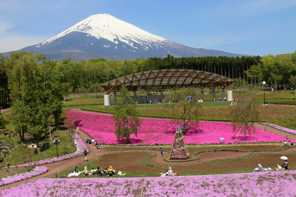
M 22 174 L 16 174 L 14 176 L 1 178 L 0 179 L 0 186 L 11 184 L 11 183 L 21 181 L 21 180 L 26 180 L 26 179 L 32 178 L 34 176 L 38 176 L 40 174 L 47 172 L 47 170 L 48 170 L 47 167 L 40 166 L 40 167 L 36 167 L 35 169 L 31 170 L 30 172 L 25 172 Z

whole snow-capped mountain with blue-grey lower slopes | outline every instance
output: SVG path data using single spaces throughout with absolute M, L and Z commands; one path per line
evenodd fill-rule
M 163 58 L 168 54 L 174 57 L 243 56 L 178 44 L 109 14 L 91 15 L 64 32 L 20 51 L 42 53 L 46 59 L 57 61 L 67 57 L 72 61 Z

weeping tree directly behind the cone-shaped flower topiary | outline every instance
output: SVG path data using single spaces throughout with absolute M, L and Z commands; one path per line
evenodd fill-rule
M 171 112 L 172 122 L 181 126 L 181 131 L 185 135 L 188 126 L 197 127 L 198 115 L 201 105 L 197 102 L 202 99 L 201 93 L 193 88 L 182 88 L 166 95 L 164 101 L 175 102 L 166 104 L 166 108 Z M 197 129 L 197 128 L 195 128 Z

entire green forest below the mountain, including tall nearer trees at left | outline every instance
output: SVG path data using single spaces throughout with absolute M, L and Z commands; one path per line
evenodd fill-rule
M 23 140 L 29 133 L 38 143 L 47 129 L 47 120 L 58 125 L 62 101 L 69 93 L 101 91 L 100 84 L 141 71 L 183 68 L 222 74 L 236 80 L 236 86 L 261 85 L 269 88 L 296 88 L 296 52 L 264 57 L 150 58 L 108 61 L 104 59 L 71 62 L 46 60 L 43 55 L 14 52 L 0 55 L 0 106 L 12 104 L 12 121 Z

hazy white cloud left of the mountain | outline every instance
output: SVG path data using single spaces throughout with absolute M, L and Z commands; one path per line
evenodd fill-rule
M 11 24 L 0 21 L 0 53 L 20 50 L 26 46 L 40 43 L 48 38 L 48 36 L 32 36 L 10 33 L 8 30 L 11 27 Z

